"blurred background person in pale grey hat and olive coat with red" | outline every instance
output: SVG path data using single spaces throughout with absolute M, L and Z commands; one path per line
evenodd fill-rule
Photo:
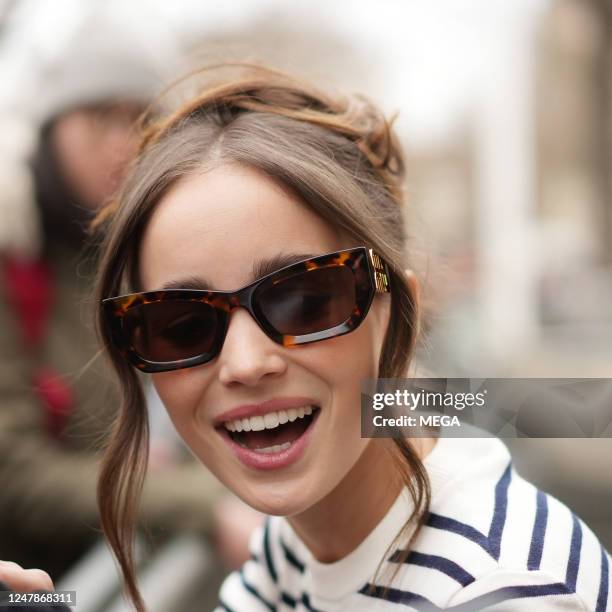
M 94 9 L 53 57 L 31 65 L 35 95 L 2 117 L 0 558 L 44 567 L 55 580 L 100 535 L 98 454 L 118 408 L 95 359 L 86 228 L 120 183 L 135 120 L 178 60 L 171 39 L 143 40 Z M 163 423 L 155 398 L 151 409 Z M 209 536 L 236 566 L 258 517 L 168 431 L 153 428 L 140 527 L 160 542 L 177 532 Z M 228 517 L 244 529 L 230 531 Z

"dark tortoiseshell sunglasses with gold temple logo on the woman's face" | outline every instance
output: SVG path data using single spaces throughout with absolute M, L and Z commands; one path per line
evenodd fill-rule
M 246 308 L 283 346 L 357 329 L 376 292 L 389 293 L 387 264 L 355 247 L 276 270 L 238 291 L 169 289 L 102 300 L 113 344 L 143 372 L 189 368 L 214 359 L 230 313 Z

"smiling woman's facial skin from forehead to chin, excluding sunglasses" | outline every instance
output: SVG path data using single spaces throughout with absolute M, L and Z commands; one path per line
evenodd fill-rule
M 273 180 L 225 165 L 179 181 L 163 197 L 143 236 L 140 273 L 144 290 L 188 277 L 236 290 L 255 280 L 260 262 L 352 246 Z M 377 294 L 349 334 L 291 348 L 273 342 L 240 308 L 213 361 L 154 374 L 153 382 L 179 434 L 228 488 L 261 512 L 301 513 L 334 490 L 370 442 L 360 435 L 360 381 L 377 375 L 389 300 Z M 243 442 L 258 450 L 237 450 L 224 414 L 264 402 L 282 443 L 265 442 L 269 431 L 250 432 Z M 274 427 L 274 414 L 282 421 L 283 411 L 291 416 L 289 407 L 300 405 L 315 407 L 316 418 Z

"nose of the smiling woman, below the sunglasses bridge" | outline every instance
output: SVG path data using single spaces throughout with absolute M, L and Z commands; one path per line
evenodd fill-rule
M 286 350 L 268 338 L 244 308 L 238 308 L 230 316 L 219 353 L 219 380 L 254 386 L 265 377 L 278 376 L 287 369 L 282 355 Z

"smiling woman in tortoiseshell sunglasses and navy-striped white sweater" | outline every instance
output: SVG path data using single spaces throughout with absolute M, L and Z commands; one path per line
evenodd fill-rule
M 389 123 L 272 70 L 206 74 L 145 123 L 98 219 L 123 390 L 98 493 L 136 609 L 140 371 L 194 455 L 271 515 L 218 610 L 606 610 L 609 555 L 499 440 L 360 435 L 361 379 L 407 376 L 418 337 Z

